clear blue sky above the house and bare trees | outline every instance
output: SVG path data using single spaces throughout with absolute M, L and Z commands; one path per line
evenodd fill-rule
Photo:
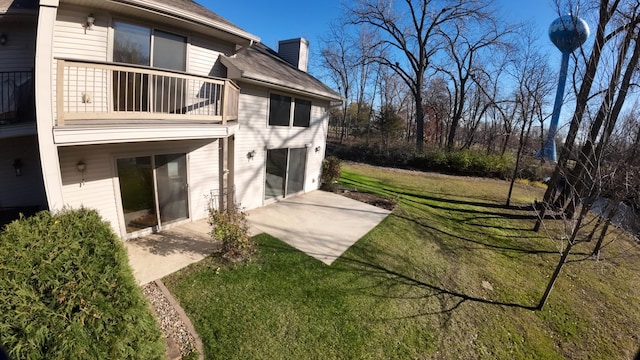
M 211 11 L 260 37 L 267 46 L 276 49 L 278 40 L 304 37 L 311 51 L 318 51 L 319 37 L 328 32 L 329 24 L 340 17 L 341 0 L 265 1 L 265 0 L 196 0 Z M 550 62 L 560 64 L 560 52 L 547 37 L 551 22 L 557 18 L 552 0 L 496 0 L 502 16 L 513 22 L 533 21 L 537 31 L 549 44 Z M 558 65 L 559 66 L 559 65 Z

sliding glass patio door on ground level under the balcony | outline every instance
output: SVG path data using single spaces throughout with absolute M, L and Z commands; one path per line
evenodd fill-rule
M 185 154 L 116 160 L 127 234 L 189 218 Z

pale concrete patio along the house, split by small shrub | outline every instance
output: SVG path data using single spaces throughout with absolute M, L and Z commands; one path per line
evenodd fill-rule
M 313 191 L 248 213 L 251 235 L 268 233 L 327 265 L 390 212 L 341 195 Z M 125 242 L 139 284 L 169 275 L 216 251 L 199 220 Z

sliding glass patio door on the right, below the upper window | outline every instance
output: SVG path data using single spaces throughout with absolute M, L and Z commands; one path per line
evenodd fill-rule
M 267 150 L 265 200 L 275 200 L 304 190 L 306 148 Z

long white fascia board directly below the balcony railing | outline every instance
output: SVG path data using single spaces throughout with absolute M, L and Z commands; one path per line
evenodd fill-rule
M 53 138 L 58 146 L 216 139 L 234 135 L 238 127 L 238 123 L 206 126 L 60 126 L 53 129 Z

